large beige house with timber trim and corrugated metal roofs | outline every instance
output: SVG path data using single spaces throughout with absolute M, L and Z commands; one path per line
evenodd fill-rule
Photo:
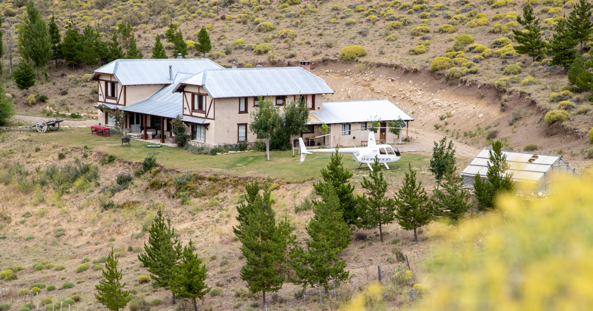
M 95 70 L 97 108 L 101 121 L 114 126 L 112 111 L 125 111 L 125 131 L 139 139 L 172 138 L 171 120 L 177 116 L 186 125 L 193 145 L 222 145 L 255 142 L 248 124 L 259 98 L 271 100 L 278 109 L 290 101 L 305 101 L 310 122 L 301 134 L 313 145 L 364 144 L 355 139 L 366 122 L 411 121 L 388 100 L 323 102 L 333 90 L 323 79 L 309 72 L 310 62 L 300 67 L 225 69 L 208 59 L 115 60 Z M 330 136 L 321 135 L 321 124 Z M 339 133 L 334 133 L 339 132 Z M 350 134 L 352 133 L 352 134 Z M 313 137 L 315 136 L 315 137 Z M 401 136 L 400 136 L 401 137 Z M 395 137 L 381 129 L 377 139 L 393 143 Z

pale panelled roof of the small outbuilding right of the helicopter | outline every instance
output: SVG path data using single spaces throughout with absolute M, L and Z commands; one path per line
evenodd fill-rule
M 490 150 L 492 150 L 492 148 L 484 148 L 480 154 L 471 161 L 470 165 L 461 172 L 461 176 L 473 178 L 479 173 L 480 176 L 486 177 Z M 568 166 L 574 174 L 578 175 L 578 173 L 576 173 L 574 169 L 562 159 L 561 155 L 511 150 L 502 150 L 502 153 L 503 155 L 506 155 L 506 163 L 509 165 L 509 169 L 506 172 L 513 174 L 512 179 L 514 181 L 538 182 L 553 166 Z

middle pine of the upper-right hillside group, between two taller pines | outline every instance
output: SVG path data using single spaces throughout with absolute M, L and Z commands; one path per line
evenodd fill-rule
M 559 20 L 556 25 L 556 33 L 552 35 L 548 47 L 548 53 L 552 56 L 550 65 L 562 66 L 565 68 L 565 72 L 568 71 L 575 60 L 576 43 L 572 30 L 566 25 L 566 20 Z

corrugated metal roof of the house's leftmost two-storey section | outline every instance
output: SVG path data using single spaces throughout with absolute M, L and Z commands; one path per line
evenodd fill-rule
M 96 79 L 101 73 L 114 75 L 121 85 L 171 84 L 169 66 L 173 76 L 178 72 L 192 74 L 205 69 L 221 69 L 209 59 L 116 59 L 94 71 L 89 78 Z

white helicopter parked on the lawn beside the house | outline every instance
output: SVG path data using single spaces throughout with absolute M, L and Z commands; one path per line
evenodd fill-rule
M 362 148 L 329 148 L 329 149 L 314 149 L 311 150 L 313 152 L 318 153 L 350 153 L 352 154 L 352 159 L 356 163 L 361 163 L 358 168 L 361 168 L 363 164 L 366 164 L 369 169 L 372 171 L 371 164 L 375 163 L 375 156 L 378 158 L 379 163 L 385 165 L 385 168 L 390 169 L 387 166 L 387 163 L 394 163 L 400 160 L 401 153 L 400 150 L 397 150 L 394 146 L 381 144 L 377 145 L 375 142 L 375 132 L 374 130 L 378 129 L 377 127 L 369 127 L 369 139 L 368 144 L 366 147 Z M 327 134 L 330 135 L 330 134 Z M 323 135 L 326 136 L 326 135 Z M 318 136 L 318 137 L 323 137 Z M 303 142 L 302 138 L 299 138 L 299 147 L 301 148 L 301 163 L 305 161 L 305 157 L 307 155 L 311 155 L 313 152 L 310 152 L 305 147 L 305 142 Z M 300 163 L 299 163 L 300 164 Z

